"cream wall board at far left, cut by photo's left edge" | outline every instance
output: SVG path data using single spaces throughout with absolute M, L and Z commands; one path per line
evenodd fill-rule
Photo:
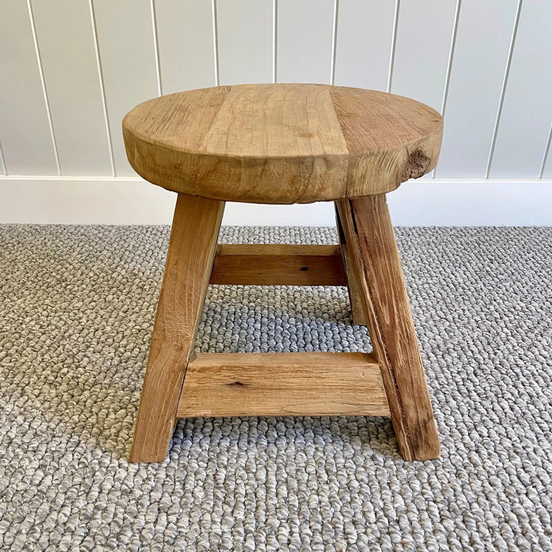
M 57 175 L 46 98 L 27 3 L 1 3 L 0 140 L 3 170 L 12 175 Z

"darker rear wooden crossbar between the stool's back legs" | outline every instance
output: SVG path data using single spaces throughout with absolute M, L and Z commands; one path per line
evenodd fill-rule
M 210 284 L 344 286 L 339 246 L 228 244 L 217 247 Z

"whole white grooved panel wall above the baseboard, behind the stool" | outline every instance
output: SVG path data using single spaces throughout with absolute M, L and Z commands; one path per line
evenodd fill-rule
M 137 103 L 295 81 L 440 110 L 434 179 L 552 179 L 551 28 L 549 0 L 5 0 L 0 174 L 132 176 Z

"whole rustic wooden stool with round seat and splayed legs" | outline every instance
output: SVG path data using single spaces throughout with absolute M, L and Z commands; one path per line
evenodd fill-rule
M 440 455 L 385 194 L 432 170 L 442 118 L 408 98 L 320 84 L 190 90 L 123 121 L 139 175 L 178 193 L 131 462 L 181 417 L 391 415 L 405 460 Z M 223 245 L 225 201 L 335 201 L 340 246 Z M 192 355 L 208 284 L 347 285 L 374 354 Z

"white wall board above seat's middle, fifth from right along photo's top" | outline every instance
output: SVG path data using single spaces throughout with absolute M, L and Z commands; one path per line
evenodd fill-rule
M 329 83 L 335 0 L 278 0 L 278 82 Z

